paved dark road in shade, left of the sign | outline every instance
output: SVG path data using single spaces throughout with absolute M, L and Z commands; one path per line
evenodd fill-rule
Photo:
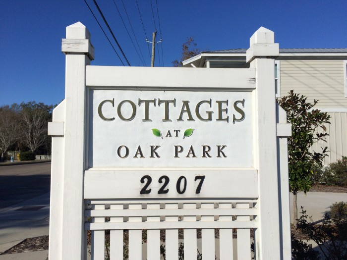
M 50 191 L 51 163 L 0 167 L 0 209 Z

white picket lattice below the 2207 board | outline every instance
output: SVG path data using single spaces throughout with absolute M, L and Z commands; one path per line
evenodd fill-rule
M 129 260 L 142 259 L 143 243 L 147 245 L 146 259 L 151 260 L 164 259 L 163 251 L 165 259 L 180 259 L 180 243 L 185 260 L 199 259 L 199 256 L 204 260 L 251 259 L 251 228 L 258 227 L 254 220 L 258 209 L 253 207 L 256 199 L 86 200 L 86 203 L 89 209 L 85 210 L 88 219 L 85 229 L 92 232 L 94 260 L 104 259 L 105 250 L 108 250 L 104 246 L 105 230 L 110 230 L 107 239 L 110 239 L 108 254 L 112 260 L 127 256 Z M 179 239 L 179 229 L 183 229 L 183 240 Z M 201 247 L 197 242 L 199 229 Z M 235 248 L 233 229 L 237 229 Z M 128 230 L 128 240 L 123 240 L 123 230 Z M 147 230 L 146 240 L 143 230 Z M 161 230 L 165 230 L 165 236 L 161 235 L 164 234 Z M 219 246 L 215 245 L 215 233 L 218 234 L 215 230 L 219 230 Z

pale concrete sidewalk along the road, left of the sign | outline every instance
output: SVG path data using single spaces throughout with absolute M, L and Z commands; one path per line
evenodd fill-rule
M 50 193 L 0 209 L 0 254 L 26 238 L 49 234 Z M 47 251 L 0 255 L 0 260 L 46 260 Z

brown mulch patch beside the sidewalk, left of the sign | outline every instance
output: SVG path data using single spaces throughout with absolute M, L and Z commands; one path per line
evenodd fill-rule
M 48 250 L 49 236 L 33 237 L 24 239 L 19 244 L 11 247 L 10 249 L 3 252 L 1 255 L 26 253 L 34 251 Z

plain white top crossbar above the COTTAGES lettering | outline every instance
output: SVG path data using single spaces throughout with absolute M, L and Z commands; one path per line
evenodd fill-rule
M 251 91 L 255 89 L 255 82 L 252 81 L 255 78 L 255 69 L 239 68 L 232 71 L 221 68 L 203 71 L 202 69 L 87 66 L 86 86 L 100 86 L 105 89 L 108 87 L 113 89 L 114 87 L 133 89 L 157 87 L 157 90 L 158 87 L 163 90 L 191 88 L 195 91 L 206 91 L 206 89 Z M 184 80 L 177 81 L 177 79 Z

